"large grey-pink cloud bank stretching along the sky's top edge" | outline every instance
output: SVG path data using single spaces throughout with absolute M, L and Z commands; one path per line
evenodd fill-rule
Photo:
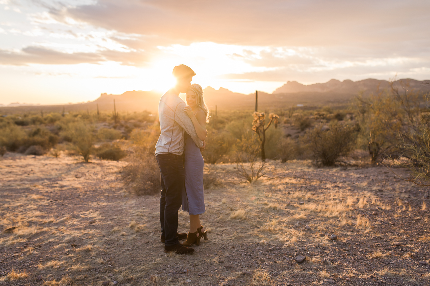
M 180 44 L 366 46 L 430 38 L 429 8 L 425 0 L 98 0 L 53 13 Z

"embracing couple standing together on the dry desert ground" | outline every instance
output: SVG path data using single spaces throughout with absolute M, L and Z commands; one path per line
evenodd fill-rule
M 203 166 L 201 151 L 205 148 L 206 122 L 209 110 L 203 100 L 203 90 L 191 85 L 194 70 L 184 64 L 173 69 L 177 79 L 174 88 L 160 99 L 158 115 L 161 134 L 155 155 L 161 175 L 160 224 L 164 252 L 190 254 L 194 243 L 199 245 L 207 231 L 199 215 L 205 212 L 203 197 Z M 186 94 L 187 104 L 179 97 Z M 178 210 L 190 213 L 188 234 L 178 233 Z M 179 240 L 187 240 L 181 244 Z

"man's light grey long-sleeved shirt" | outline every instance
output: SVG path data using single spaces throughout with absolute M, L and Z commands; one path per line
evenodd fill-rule
M 190 134 L 194 143 L 201 148 L 203 141 L 199 139 L 193 122 L 184 111 L 184 100 L 178 95 L 165 93 L 158 105 L 161 134 L 155 145 L 155 155 L 172 153 L 182 155 L 184 152 L 184 132 Z

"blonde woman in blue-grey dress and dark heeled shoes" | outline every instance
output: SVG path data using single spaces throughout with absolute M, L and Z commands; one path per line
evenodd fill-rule
M 185 112 L 190 116 L 196 128 L 197 136 L 204 141 L 207 136 L 206 122 L 209 122 L 209 110 L 203 100 L 203 89 L 198 84 L 193 84 L 188 88 L 185 99 L 187 106 Z M 203 161 L 200 148 L 193 139 L 185 133 L 185 193 L 182 194 L 182 210 L 190 213 L 190 231 L 184 246 L 193 243 L 200 245 L 200 239 L 207 240 L 207 231 L 200 223 L 199 215 L 205 212 L 205 199 L 203 196 Z

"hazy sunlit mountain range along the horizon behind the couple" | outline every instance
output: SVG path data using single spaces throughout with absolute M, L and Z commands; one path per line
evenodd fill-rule
M 427 83 L 427 84 L 426 84 Z M 423 93 L 430 92 L 430 80 L 418 81 L 415 79 L 399 79 L 393 82 L 395 88 L 400 91 L 416 90 Z M 362 93 L 364 96 L 390 88 L 390 82 L 378 79 L 364 79 L 353 82 L 346 79 L 339 81 L 331 79 L 325 83 L 315 83 L 303 85 L 298 82 L 287 82 L 277 88 L 272 94 L 258 91 L 258 106 L 261 109 L 285 108 L 296 104 L 310 106 L 327 105 L 333 103 L 346 104 L 353 97 Z M 253 109 L 255 104 L 255 93 L 241 94 L 230 91 L 226 88 L 216 90 L 208 86 L 203 90 L 206 103 L 209 109 Z M 96 100 L 86 103 L 66 104 L 66 105 L 46 105 L 46 106 L 0 106 L 0 111 L 61 111 L 63 106 L 66 111 L 98 109 L 113 111 L 114 100 L 117 111 L 143 111 L 148 110 L 156 113 L 161 93 L 157 91 L 126 91 L 123 94 L 103 93 Z

